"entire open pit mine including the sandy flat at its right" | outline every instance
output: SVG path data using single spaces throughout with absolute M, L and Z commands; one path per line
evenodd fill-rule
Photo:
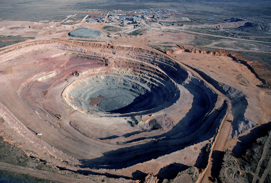
M 215 145 L 269 119 L 261 81 L 219 52 L 55 39 L 4 49 L 0 62 L 5 139 L 84 175 L 200 181 Z

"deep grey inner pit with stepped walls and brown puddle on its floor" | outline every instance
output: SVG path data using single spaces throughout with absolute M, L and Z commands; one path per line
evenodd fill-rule
M 111 72 L 113 70 L 116 73 L 119 68 L 112 68 Z M 149 79 L 155 75 L 136 76 L 132 71 L 128 72 L 122 70 L 115 75 L 103 74 L 75 80 L 65 88 L 63 96 L 80 109 L 95 110 L 96 104 L 100 112 L 121 114 L 159 111 L 178 99 L 176 96 L 180 91 L 169 78 L 151 81 Z

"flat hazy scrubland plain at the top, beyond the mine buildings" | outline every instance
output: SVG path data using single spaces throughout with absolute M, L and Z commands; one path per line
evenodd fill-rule
M 12 1 L 3 1 L 5 5 L 2 5 L 2 10 L 5 9 L 6 12 L 17 12 L 17 13 L 5 13 L 2 14 L 3 19 L 10 19 L 10 20 L 16 20 L 19 17 L 19 20 L 24 19 L 31 19 L 31 18 L 37 18 L 36 14 L 31 13 L 33 10 L 36 10 L 39 13 L 39 17 L 44 17 L 40 19 L 33 19 L 30 21 L 41 21 L 41 20 L 63 20 L 65 17 L 65 14 L 67 15 L 67 12 L 63 12 L 63 15 L 58 17 L 51 17 L 55 16 L 55 12 L 57 11 L 82 11 L 89 7 L 97 7 L 96 1 L 79 1 L 75 0 L 71 3 L 67 3 L 66 1 L 57 1 L 57 2 L 40 2 L 35 1 L 18 1 L 16 3 L 17 6 L 14 6 Z M 48 4 L 50 4 L 48 6 Z M 218 14 L 218 15 L 226 15 L 226 16 L 245 16 L 245 15 L 251 15 L 253 14 L 263 14 L 269 16 L 270 10 L 269 10 L 269 2 L 267 1 L 258 1 L 257 3 L 254 3 L 254 1 L 250 0 L 246 3 L 243 3 L 243 1 L 204 1 L 198 2 L 196 0 L 191 0 L 189 2 L 165 2 L 165 1 L 148 1 L 144 2 L 145 5 L 147 5 L 150 8 L 163 8 L 163 9 L 183 9 L 187 8 L 187 10 L 190 11 L 196 11 L 196 12 L 202 12 L 202 13 L 209 13 L 209 14 Z M 253 8 L 251 7 L 251 4 L 253 4 Z M 112 11 L 112 10 L 118 10 L 121 9 L 123 11 L 131 11 L 131 10 L 137 10 L 142 9 L 143 6 L 141 3 L 135 3 L 134 1 L 122 1 L 121 3 L 117 0 L 114 1 L 99 1 L 98 5 L 98 11 Z M 21 9 L 24 9 L 25 11 L 20 12 Z M 46 13 L 45 13 L 46 12 Z M 185 13 L 185 11 L 183 11 Z M 202 15 L 201 13 L 193 13 L 195 15 Z M 86 15 L 87 13 L 81 13 L 82 15 Z M 79 15 L 79 13 L 78 13 Z M 203 20 L 202 20 L 203 21 Z M 204 19 L 204 21 L 210 21 L 208 19 Z

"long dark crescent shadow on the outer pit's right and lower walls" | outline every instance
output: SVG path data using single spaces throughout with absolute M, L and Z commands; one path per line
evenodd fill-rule
M 176 83 L 182 84 L 188 77 L 188 73 L 179 65 L 174 65 L 178 68 L 176 69 L 168 67 L 167 64 L 174 65 L 175 63 L 158 63 L 157 65 Z M 209 101 L 206 93 L 204 93 L 204 91 L 206 92 L 206 88 L 203 89 L 200 87 L 206 86 L 204 85 L 203 81 L 201 82 L 202 85 L 197 86 L 195 86 L 195 83 L 192 85 L 183 85 L 194 96 L 192 108 L 185 115 L 185 117 L 167 133 L 150 137 L 166 137 L 165 139 L 158 140 L 157 142 L 151 141 L 145 144 L 112 150 L 103 153 L 103 156 L 99 158 L 88 159 L 87 161 L 86 159 L 81 159 L 80 161 L 83 165 L 80 167 L 91 167 L 96 169 L 122 169 L 137 163 L 157 159 L 160 156 L 170 154 L 177 150 L 182 150 L 187 146 L 202 142 L 204 140 L 209 140 L 211 137 L 215 136 L 217 134 L 217 129 L 219 128 L 221 119 L 226 115 L 228 105 L 226 102 L 224 102 L 220 110 L 214 110 L 209 115 L 206 115 L 211 109 L 213 109 L 217 100 L 217 95 L 213 93 L 213 95 L 210 96 L 210 98 L 213 99 Z M 179 166 L 178 164 L 173 164 L 172 166 L 178 166 L 180 168 L 184 167 L 185 165 Z M 164 170 L 165 169 L 162 168 L 160 173 L 158 173 L 161 178 L 164 175 Z M 175 174 L 176 172 L 174 172 L 174 175 Z M 135 175 L 136 174 L 133 176 Z M 144 173 L 141 176 L 144 176 Z

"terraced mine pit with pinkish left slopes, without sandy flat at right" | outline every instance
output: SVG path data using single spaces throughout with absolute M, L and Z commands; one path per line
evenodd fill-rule
M 43 55 L 26 61 L 23 52 Z M 157 161 L 176 162 L 175 154 L 188 149 L 196 158 L 211 148 L 232 108 L 233 130 L 252 124 L 244 117 L 245 94 L 148 49 L 57 40 L 7 54 L 1 70 L 24 64 L 1 75 L 6 106 L 16 103 L 20 112 L 9 110 L 29 129 L 46 129 L 39 130 L 46 153 L 69 166 L 130 177 L 148 166 L 157 174 L 165 166 Z M 185 157 L 178 163 L 195 164 Z

